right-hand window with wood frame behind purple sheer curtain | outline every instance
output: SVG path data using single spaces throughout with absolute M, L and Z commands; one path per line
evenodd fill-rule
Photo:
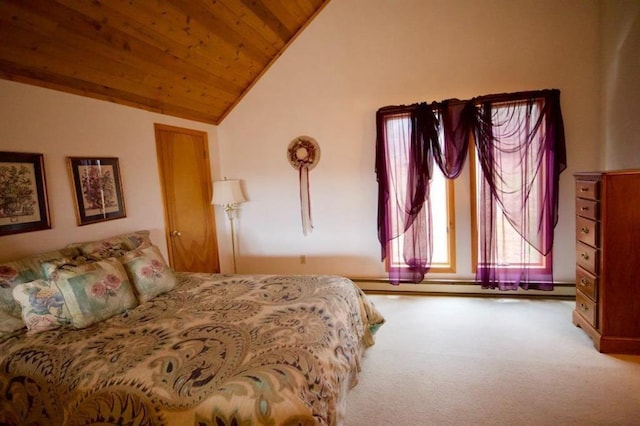
M 541 247 L 546 244 L 540 241 L 550 234 L 549 230 L 544 229 L 549 223 L 537 219 L 542 215 L 545 185 L 548 184 L 544 157 L 536 155 L 543 151 L 540 144 L 545 139 L 543 133 L 546 126 L 542 118 L 539 125 L 535 126 L 536 135 L 532 135 L 532 123 L 523 120 L 525 116 L 540 117 L 539 103 L 492 106 L 492 132 L 499 142 L 487 147 L 488 152 L 484 155 L 492 159 L 491 164 L 496 166 L 494 168 L 499 167 L 499 171 L 492 171 L 492 179 L 500 197 L 493 196 L 491 192 L 476 155 L 477 148 L 471 150 L 474 269 L 492 268 L 506 275 L 522 269 L 539 272 L 550 269 L 551 253 L 545 256 L 541 252 Z M 526 124 L 523 125 L 523 122 Z M 533 174 L 537 177 L 532 177 Z M 510 211 L 517 210 L 519 214 L 509 217 L 503 203 L 509 203 Z M 484 241 L 480 237 L 482 234 L 485 235 Z M 488 237 L 490 241 L 487 241 Z M 491 245 L 492 253 L 483 262 L 479 260 L 482 244 Z

